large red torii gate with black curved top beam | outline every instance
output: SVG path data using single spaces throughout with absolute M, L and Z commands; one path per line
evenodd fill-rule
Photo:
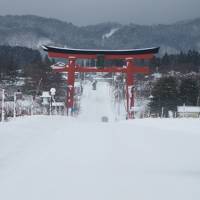
M 42 46 L 44 51 L 48 52 L 48 56 L 51 58 L 64 58 L 68 60 L 68 64 L 65 67 L 54 69 L 56 72 L 68 72 L 67 79 L 67 114 L 69 109 L 72 110 L 74 106 L 74 82 L 75 72 L 120 72 L 126 74 L 126 104 L 127 104 L 127 116 L 133 118 L 132 108 L 134 107 L 134 74 L 142 73 L 148 74 L 148 67 L 138 67 L 135 65 L 135 59 L 150 60 L 154 57 L 154 54 L 158 53 L 159 47 L 147 48 L 147 49 L 130 49 L 130 50 L 86 50 L 86 49 L 69 49 L 58 48 L 52 46 Z M 82 67 L 76 64 L 77 59 L 98 59 L 126 60 L 126 66 L 123 67 Z M 72 113 L 71 113 L 72 114 Z

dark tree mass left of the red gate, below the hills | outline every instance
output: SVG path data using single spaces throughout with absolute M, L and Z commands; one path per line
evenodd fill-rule
M 18 78 L 24 78 L 24 85 L 18 88 L 31 95 L 38 95 L 51 87 L 61 88 L 61 75 L 53 74 L 50 68 L 54 63 L 54 60 L 47 55 L 43 56 L 38 50 L 0 46 L 0 83 L 7 80 L 15 86 Z

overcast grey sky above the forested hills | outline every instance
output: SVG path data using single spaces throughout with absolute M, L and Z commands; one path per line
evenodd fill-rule
M 76 25 L 173 23 L 200 17 L 200 0 L 0 0 L 0 15 L 34 14 Z

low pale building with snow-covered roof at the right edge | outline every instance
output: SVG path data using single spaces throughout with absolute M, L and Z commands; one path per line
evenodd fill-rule
M 177 107 L 178 117 L 200 117 L 199 106 L 178 106 Z

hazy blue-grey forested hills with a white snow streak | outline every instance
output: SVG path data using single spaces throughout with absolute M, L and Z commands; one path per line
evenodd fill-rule
M 0 45 L 39 48 L 41 44 L 103 49 L 160 46 L 161 54 L 200 51 L 200 18 L 170 25 L 102 23 L 78 27 L 32 15 L 0 16 Z

